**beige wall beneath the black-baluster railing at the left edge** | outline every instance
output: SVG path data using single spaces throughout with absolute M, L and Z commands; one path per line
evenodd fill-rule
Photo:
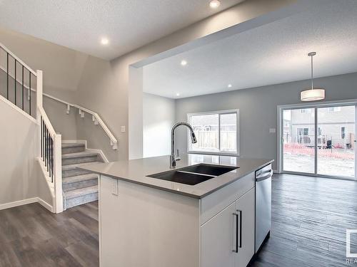
M 0 97 L 0 209 L 14 201 L 37 197 L 37 131 L 25 117 Z

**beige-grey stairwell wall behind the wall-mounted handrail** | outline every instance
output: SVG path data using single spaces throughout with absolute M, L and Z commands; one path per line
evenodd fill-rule
M 104 122 L 108 121 L 106 115 L 103 114 L 118 114 L 119 112 L 114 109 L 122 108 L 122 106 L 106 103 L 108 99 L 114 100 L 113 94 L 103 94 L 104 88 L 117 90 L 109 61 L 5 28 L 0 28 L 0 43 L 3 43 L 32 69 L 43 70 L 44 93 L 93 110 L 101 115 Z M 3 61 L 6 58 L 4 55 L 1 53 Z M 4 66 L 3 61 L 0 60 L 0 66 Z M 1 77 L 0 75 L 0 83 L 4 85 L 4 79 Z M 1 88 L 4 90 L 6 87 L 1 86 Z M 44 96 L 44 109 L 54 130 L 62 135 L 63 140 L 88 140 L 90 148 L 104 150 L 109 160 L 119 159 L 119 154 L 122 155 L 121 157 L 126 157 L 124 150 L 111 149 L 109 137 L 99 125 L 93 124 L 90 115 L 86 114 L 84 118 L 81 118 L 78 110 L 74 109 L 71 109 L 67 115 L 66 105 L 46 96 Z M 114 132 L 117 139 L 120 139 L 119 125 L 115 122 L 116 120 L 113 120 L 107 126 Z

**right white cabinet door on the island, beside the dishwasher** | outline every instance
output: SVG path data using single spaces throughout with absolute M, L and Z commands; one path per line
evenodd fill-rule
M 255 188 L 253 188 L 236 201 L 236 214 L 238 214 L 237 253 L 235 253 L 234 264 L 236 267 L 246 267 L 254 254 L 255 199 Z

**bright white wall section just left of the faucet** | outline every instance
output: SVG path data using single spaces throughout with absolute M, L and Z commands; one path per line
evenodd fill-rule
M 143 93 L 143 155 L 170 155 L 175 100 Z

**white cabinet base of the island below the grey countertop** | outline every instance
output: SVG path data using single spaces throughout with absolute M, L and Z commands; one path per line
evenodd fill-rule
M 253 256 L 254 173 L 202 199 L 99 180 L 101 266 L 244 267 Z

